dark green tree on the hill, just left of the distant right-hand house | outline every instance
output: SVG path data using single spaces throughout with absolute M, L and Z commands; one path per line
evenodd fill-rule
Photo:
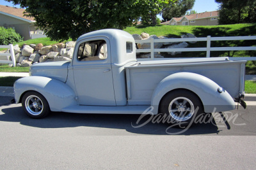
M 168 4 L 163 9 L 164 20 L 171 20 L 173 17 L 181 17 L 186 14 L 186 11 L 191 10 L 195 0 L 178 0 L 174 5 Z

